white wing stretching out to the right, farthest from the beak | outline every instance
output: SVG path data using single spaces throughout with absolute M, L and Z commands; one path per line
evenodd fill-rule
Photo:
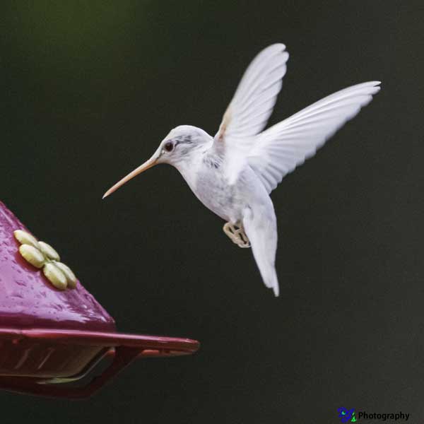
M 270 193 L 379 91 L 379 81 L 331 94 L 255 137 L 247 163 Z

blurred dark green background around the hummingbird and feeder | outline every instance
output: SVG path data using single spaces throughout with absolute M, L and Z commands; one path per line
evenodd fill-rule
M 31 5 L 30 5 L 31 4 Z M 189 336 L 83 403 L 0 393 L 2 423 L 424 418 L 421 1 L 4 1 L 0 199 L 122 331 Z M 284 42 L 271 123 L 353 83 L 375 100 L 273 192 L 281 297 L 179 173 L 105 201 L 168 131 L 215 134 L 260 49 Z

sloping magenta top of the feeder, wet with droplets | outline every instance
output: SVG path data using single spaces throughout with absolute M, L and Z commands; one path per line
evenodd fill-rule
M 18 239 L 25 243 L 32 241 L 23 240 L 30 232 L 0 201 L 1 325 L 114 331 L 114 319 L 79 281 L 75 288 L 66 284 L 64 290 L 59 290 L 45 276 L 46 267 L 56 267 L 62 264 L 60 261 L 49 261 L 47 255 L 40 252 L 47 261 L 37 268 L 24 259 L 22 247 L 32 249 L 35 254 L 41 248 L 21 243 L 16 237 L 17 230 Z M 43 242 L 40 245 L 45 247 Z

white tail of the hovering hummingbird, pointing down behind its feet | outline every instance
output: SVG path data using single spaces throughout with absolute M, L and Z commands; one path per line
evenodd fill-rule
M 276 273 L 277 220 L 271 199 L 269 204 L 257 205 L 243 211 L 243 226 L 249 237 L 254 259 L 261 273 L 262 280 L 278 296 L 278 278 Z

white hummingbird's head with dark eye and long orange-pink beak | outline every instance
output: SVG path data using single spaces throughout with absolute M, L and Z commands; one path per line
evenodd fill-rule
M 213 139 L 203 129 L 192 125 L 180 125 L 170 131 L 170 133 L 160 142 L 159 147 L 153 153 L 152 157 L 143 165 L 137 167 L 126 177 L 122 178 L 117 184 L 114 184 L 103 195 L 103 199 L 114 191 L 119 189 L 123 184 L 134 178 L 148 168 L 158 165 L 159 163 L 169 163 L 175 167 L 179 167 L 184 163 L 190 163 L 196 152 L 205 150 L 211 145 Z

